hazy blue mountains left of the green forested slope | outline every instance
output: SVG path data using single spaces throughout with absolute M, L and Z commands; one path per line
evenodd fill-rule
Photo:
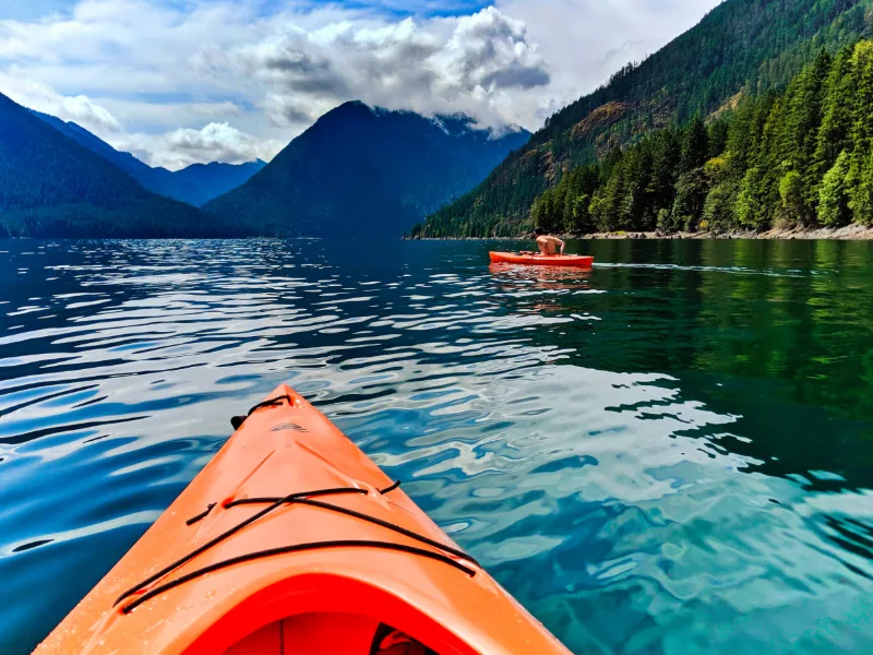
M 2 96 L 0 234 L 400 236 L 529 136 L 494 135 L 464 116 L 426 118 L 347 103 L 270 164 L 196 164 L 172 172 Z

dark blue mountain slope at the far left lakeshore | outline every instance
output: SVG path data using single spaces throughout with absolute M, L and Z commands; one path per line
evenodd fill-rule
M 224 236 L 235 230 L 141 187 L 0 94 L 0 234 L 32 237 Z

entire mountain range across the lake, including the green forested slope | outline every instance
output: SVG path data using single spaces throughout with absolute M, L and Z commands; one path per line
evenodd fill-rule
M 270 164 L 178 172 L 3 97 L 0 230 L 399 236 L 428 216 L 415 234 L 491 236 L 535 221 L 570 231 L 873 222 L 873 111 L 844 93 L 871 79 L 873 48 L 856 44 L 873 36 L 872 16 L 873 0 L 726 0 L 533 136 L 347 103 Z

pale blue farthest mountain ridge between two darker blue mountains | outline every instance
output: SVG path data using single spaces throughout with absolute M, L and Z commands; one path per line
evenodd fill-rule
M 239 187 L 266 166 L 265 162 L 258 159 L 246 164 L 193 164 L 177 171 L 155 168 L 130 153 L 115 150 L 74 122 L 64 122 L 39 111 L 34 111 L 34 115 L 80 145 L 115 164 L 150 191 L 198 206 Z

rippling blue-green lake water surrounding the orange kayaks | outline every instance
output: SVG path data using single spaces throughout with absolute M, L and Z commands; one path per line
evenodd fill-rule
M 0 241 L 0 653 L 286 381 L 576 653 L 873 652 L 873 245 L 576 246 Z

